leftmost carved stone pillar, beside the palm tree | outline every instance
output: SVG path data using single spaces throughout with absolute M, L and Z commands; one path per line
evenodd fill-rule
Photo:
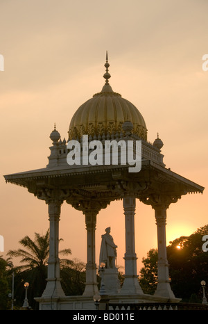
M 58 257 L 59 220 L 62 201 L 49 200 L 46 204 L 48 204 L 49 208 L 50 243 L 47 284 L 42 297 L 57 298 L 64 296 L 60 284 L 60 259 Z

